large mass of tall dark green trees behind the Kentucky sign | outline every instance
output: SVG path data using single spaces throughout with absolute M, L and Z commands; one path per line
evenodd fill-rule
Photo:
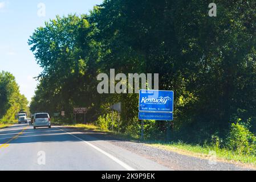
M 237 118 L 255 133 L 256 2 L 215 3 L 209 17 L 204 0 L 109 0 L 46 22 L 29 40 L 43 68 L 31 112 L 64 110 L 62 121 L 72 122 L 73 107 L 85 106 L 91 122 L 109 128 L 108 106 L 122 102 L 121 131 L 138 135 L 138 95 L 97 93 L 96 76 L 115 68 L 159 73 L 160 89 L 175 92 L 173 140 L 219 145 Z M 165 136 L 165 122 L 145 123 L 145 137 Z

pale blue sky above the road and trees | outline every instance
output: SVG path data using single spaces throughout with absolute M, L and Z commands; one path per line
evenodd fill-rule
M 0 0 L 0 71 L 15 76 L 22 94 L 30 101 L 38 82 L 33 77 L 42 69 L 36 64 L 27 44 L 29 36 L 56 15 L 88 13 L 103 0 Z M 45 16 L 40 8 L 45 5 Z M 38 15 L 39 13 L 39 15 Z M 41 14 L 42 15 L 42 14 Z

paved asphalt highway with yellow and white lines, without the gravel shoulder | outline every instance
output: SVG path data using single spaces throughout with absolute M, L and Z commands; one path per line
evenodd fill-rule
M 66 127 L 14 125 L 0 130 L 0 170 L 170 170 L 152 160 Z

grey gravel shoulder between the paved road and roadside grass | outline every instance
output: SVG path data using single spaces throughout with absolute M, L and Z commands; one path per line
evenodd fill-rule
M 221 162 L 220 160 L 210 160 L 198 158 L 195 156 L 178 154 L 178 152 L 164 150 L 162 148 L 149 146 L 146 143 L 130 142 L 123 139 L 117 139 L 107 133 L 98 131 L 81 130 L 74 127 L 68 127 L 72 130 L 78 130 L 84 134 L 100 140 L 107 141 L 115 146 L 134 152 L 149 160 L 157 162 L 162 166 L 176 171 L 250 171 L 253 168 L 243 167 L 238 164 Z

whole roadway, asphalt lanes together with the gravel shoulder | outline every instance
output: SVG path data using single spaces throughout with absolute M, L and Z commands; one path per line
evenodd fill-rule
M 104 133 L 27 124 L 0 130 L 0 171 L 246 171 Z

